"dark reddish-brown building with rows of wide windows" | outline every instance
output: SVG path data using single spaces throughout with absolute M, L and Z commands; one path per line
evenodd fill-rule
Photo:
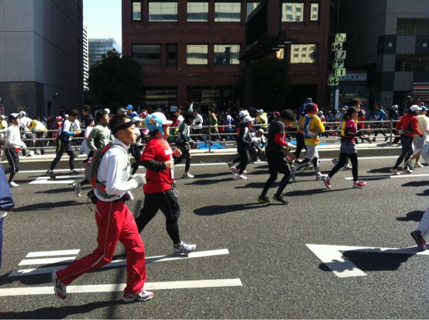
M 122 54 L 143 67 L 146 107 L 191 102 L 241 106 L 246 20 L 258 1 L 122 0 Z M 296 42 L 280 53 L 289 63 L 286 106 L 306 97 L 324 104 L 329 59 L 329 1 L 282 1 L 282 28 Z M 271 109 L 273 106 L 262 106 Z M 277 106 L 276 106 L 277 107 Z

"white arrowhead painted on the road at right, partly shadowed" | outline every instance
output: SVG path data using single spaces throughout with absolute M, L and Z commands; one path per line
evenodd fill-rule
M 341 253 L 342 251 L 429 255 L 429 251 L 420 251 L 417 246 L 406 247 L 403 249 L 383 247 L 352 247 L 347 245 L 307 245 L 307 247 L 339 278 L 367 275 L 354 263 L 352 263 L 352 261 L 349 261 L 349 259 L 347 259 Z

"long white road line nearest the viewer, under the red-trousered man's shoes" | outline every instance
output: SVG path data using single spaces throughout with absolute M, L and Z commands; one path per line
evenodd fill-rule
M 68 293 L 94 293 L 94 292 L 120 292 L 126 283 L 107 285 L 69 285 Z M 215 287 L 240 287 L 243 285 L 240 279 L 211 279 L 197 281 L 169 281 L 145 283 L 145 290 L 170 290 L 191 288 L 215 288 Z M 0 297 L 10 296 L 34 296 L 38 294 L 53 294 L 53 287 L 25 287 L 0 289 Z

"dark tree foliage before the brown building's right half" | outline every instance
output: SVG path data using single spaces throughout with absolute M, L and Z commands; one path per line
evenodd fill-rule
M 279 110 L 289 92 L 289 69 L 284 59 L 264 58 L 252 64 L 250 103 L 257 109 Z M 244 79 L 242 79 L 242 84 Z

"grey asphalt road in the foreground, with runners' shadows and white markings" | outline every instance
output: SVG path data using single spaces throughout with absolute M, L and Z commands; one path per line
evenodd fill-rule
M 18 173 L 17 205 L 3 225 L 0 318 L 427 319 L 429 256 L 417 254 L 410 232 L 428 207 L 429 169 L 392 178 L 394 161 L 360 159 L 365 189 L 352 189 L 350 171 L 334 176 L 333 189 L 300 171 L 286 187 L 289 205 L 256 202 L 268 178 L 264 163 L 249 165 L 248 180 L 233 179 L 226 164 L 192 165 L 194 179 L 176 180 L 179 225 L 200 256 L 169 260 L 159 212 L 142 232 L 155 296 L 129 304 L 121 300 L 120 263 L 77 279 L 65 301 L 54 296 L 49 270 L 70 262 L 39 259 L 92 252 L 94 211 L 86 193 L 75 196 L 66 171 L 57 174 L 63 184 L 46 180 L 45 169 Z M 183 167 L 175 171 L 179 177 Z M 143 191 L 134 196 L 129 207 L 138 214 Z M 115 259 L 125 259 L 122 245 Z

